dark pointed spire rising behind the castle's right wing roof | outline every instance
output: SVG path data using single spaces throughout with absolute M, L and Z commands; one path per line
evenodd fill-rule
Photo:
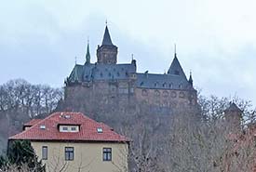
M 186 78 L 186 75 L 182 70 L 182 66 L 177 58 L 176 44 L 174 45 L 174 59 L 172 60 L 171 65 L 168 69 L 168 74 L 180 75 Z

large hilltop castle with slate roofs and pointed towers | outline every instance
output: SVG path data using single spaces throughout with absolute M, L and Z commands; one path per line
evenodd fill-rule
M 148 105 L 173 112 L 195 106 L 197 92 L 192 75 L 187 79 L 175 52 L 168 73 L 138 73 L 136 60 L 117 63 L 118 47 L 106 25 L 97 62 L 90 62 L 89 45 L 84 64 L 75 64 L 65 80 L 65 101 L 87 109 L 114 111 Z M 79 110 L 79 107 L 76 110 Z

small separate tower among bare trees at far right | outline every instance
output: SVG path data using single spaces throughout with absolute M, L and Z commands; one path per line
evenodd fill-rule
M 230 102 L 230 106 L 224 111 L 224 117 L 232 130 L 241 128 L 242 110 L 240 110 L 236 103 Z

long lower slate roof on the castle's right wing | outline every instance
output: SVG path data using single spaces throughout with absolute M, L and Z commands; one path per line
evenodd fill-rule
M 175 74 L 137 73 L 136 86 L 157 89 L 190 89 L 187 79 Z

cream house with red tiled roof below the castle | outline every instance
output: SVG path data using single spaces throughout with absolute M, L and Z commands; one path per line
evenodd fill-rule
M 9 140 L 29 139 L 47 172 L 126 172 L 128 138 L 80 112 L 32 120 Z

